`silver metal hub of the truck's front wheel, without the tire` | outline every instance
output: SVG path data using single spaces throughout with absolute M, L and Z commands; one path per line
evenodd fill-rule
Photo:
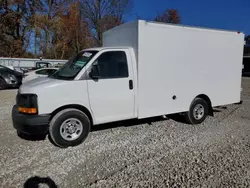
M 83 131 L 81 121 L 76 118 L 65 120 L 60 127 L 60 135 L 67 141 L 76 140 Z

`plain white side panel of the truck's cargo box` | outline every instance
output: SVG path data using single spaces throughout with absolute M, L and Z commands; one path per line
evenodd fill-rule
M 236 32 L 140 22 L 139 118 L 187 111 L 199 94 L 213 106 L 239 102 L 243 41 Z

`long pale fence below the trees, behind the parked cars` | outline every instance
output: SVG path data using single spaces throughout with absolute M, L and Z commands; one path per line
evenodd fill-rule
M 6 58 L 0 57 L 0 65 L 12 66 L 14 68 L 31 68 L 35 67 L 36 62 L 44 61 L 51 63 L 52 66 L 56 64 L 64 64 L 67 60 L 56 60 L 56 59 L 31 59 L 31 58 Z

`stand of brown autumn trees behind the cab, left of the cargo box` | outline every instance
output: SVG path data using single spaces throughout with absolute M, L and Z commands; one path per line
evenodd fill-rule
M 132 0 L 1 0 L 0 56 L 68 58 L 101 45 Z M 31 53 L 30 53 L 31 52 Z

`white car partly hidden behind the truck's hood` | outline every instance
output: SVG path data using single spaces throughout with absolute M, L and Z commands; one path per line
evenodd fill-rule
M 24 78 L 23 78 L 22 83 L 25 83 L 27 81 L 30 81 L 30 80 L 33 80 L 33 79 L 39 78 L 39 77 L 47 77 L 51 74 L 54 74 L 57 70 L 58 70 L 58 68 L 51 67 L 51 68 L 41 68 L 41 69 L 27 72 L 24 74 Z

